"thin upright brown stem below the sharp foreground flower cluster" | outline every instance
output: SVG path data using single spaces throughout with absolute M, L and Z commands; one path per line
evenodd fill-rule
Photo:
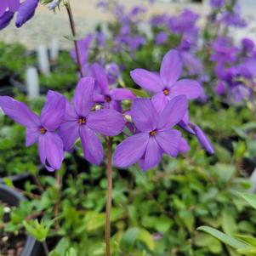
M 112 139 L 107 139 L 107 200 L 105 207 L 105 255 L 111 256 Z

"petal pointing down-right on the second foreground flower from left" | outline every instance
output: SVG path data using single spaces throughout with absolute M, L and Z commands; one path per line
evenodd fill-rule
M 100 165 L 103 160 L 104 151 L 100 139 L 95 132 L 88 128 L 87 125 L 82 125 L 79 131 L 82 140 L 82 150 L 84 157 L 88 162 Z

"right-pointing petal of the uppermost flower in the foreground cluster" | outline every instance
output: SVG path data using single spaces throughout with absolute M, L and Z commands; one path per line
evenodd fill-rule
M 171 88 L 171 94 L 174 96 L 185 95 L 188 99 L 196 99 L 203 93 L 199 82 L 191 79 L 182 79 L 175 82 Z

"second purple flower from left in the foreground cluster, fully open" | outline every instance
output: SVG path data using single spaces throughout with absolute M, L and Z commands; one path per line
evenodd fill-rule
M 99 165 L 104 150 L 96 133 L 115 136 L 122 132 L 122 114 L 110 109 L 91 111 L 94 106 L 94 78 L 84 77 L 77 85 L 73 105 L 66 102 L 65 120 L 60 125 L 60 137 L 69 151 L 76 140 L 82 140 L 82 150 L 88 162 Z

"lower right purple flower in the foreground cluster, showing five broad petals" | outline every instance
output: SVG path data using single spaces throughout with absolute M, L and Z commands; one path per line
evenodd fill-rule
M 139 162 L 140 168 L 145 171 L 155 167 L 163 153 L 176 157 L 181 134 L 173 127 L 184 117 L 187 107 L 185 96 L 177 96 L 157 115 L 151 100 L 134 100 L 131 116 L 138 133 L 117 145 L 114 164 L 118 168 L 128 168 Z

